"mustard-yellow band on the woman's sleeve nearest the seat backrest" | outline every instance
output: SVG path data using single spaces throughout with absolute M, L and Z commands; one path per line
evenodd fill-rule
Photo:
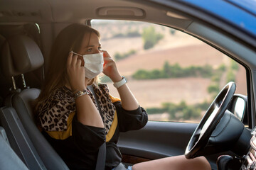
M 68 128 L 66 131 L 60 132 L 60 131 L 46 131 L 50 137 L 53 137 L 55 140 L 65 140 L 68 137 L 72 136 L 72 121 L 74 118 L 75 112 L 70 113 L 68 117 Z

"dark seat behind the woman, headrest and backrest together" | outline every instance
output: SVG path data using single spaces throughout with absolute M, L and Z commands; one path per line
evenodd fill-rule
M 4 59 L 3 59 L 4 56 Z M 36 42 L 24 35 L 6 39 L 1 50 L 1 68 L 6 77 L 32 72 L 43 64 L 43 55 Z M 47 169 L 68 169 L 63 159 L 50 146 L 33 121 L 31 102 L 38 97 L 40 89 L 25 89 L 11 98 L 18 117 L 28 137 L 36 148 Z

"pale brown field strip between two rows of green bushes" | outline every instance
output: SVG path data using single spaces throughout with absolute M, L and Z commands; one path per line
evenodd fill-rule
M 161 103 L 201 103 L 205 99 L 210 100 L 207 87 L 209 79 L 158 79 L 129 81 L 129 88 L 134 93 L 139 103 L 145 107 L 160 107 Z M 107 84 L 113 96 L 118 96 L 112 83 Z

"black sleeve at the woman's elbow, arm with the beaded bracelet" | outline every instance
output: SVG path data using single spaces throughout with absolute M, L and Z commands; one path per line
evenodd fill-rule
M 82 148 L 97 150 L 105 142 L 105 129 L 83 125 L 76 115 L 72 122 L 72 136 L 75 143 Z

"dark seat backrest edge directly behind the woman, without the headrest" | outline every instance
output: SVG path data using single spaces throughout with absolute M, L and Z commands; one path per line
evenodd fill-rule
M 45 137 L 36 127 L 33 122 L 33 110 L 31 108 L 31 102 L 38 97 L 40 94 L 39 89 L 26 89 L 21 93 L 16 94 L 13 98 L 13 106 L 16 108 L 19 118 L 31 138 L 34 147 L 40 155 L 43 163 L 47 169 L 68 169 L 63 159 L 54 151 L 53 147 L 50 146 Z

